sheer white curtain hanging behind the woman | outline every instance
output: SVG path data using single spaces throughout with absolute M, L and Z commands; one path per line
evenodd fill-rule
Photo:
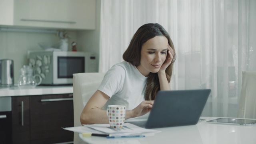
M 102 0 L 100 72 L 122 62 L 136 30 L 159 23 L 174 42 L 172 90 L 210 88 L 203 116 L 237 116 L 242 71 L 256 70 L 255 0 Z

